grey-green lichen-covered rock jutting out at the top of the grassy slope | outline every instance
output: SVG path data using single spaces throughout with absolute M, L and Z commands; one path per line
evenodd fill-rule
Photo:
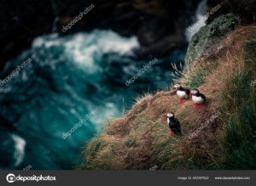
M 213 20 L 209 25 L 201 27 L 189 42 L 185 56 L 186 68 L 196 65 L 222 48 L 221 41 L 230 32 L 234 31 L 241 23 L 235 14 L 223 14 Z

